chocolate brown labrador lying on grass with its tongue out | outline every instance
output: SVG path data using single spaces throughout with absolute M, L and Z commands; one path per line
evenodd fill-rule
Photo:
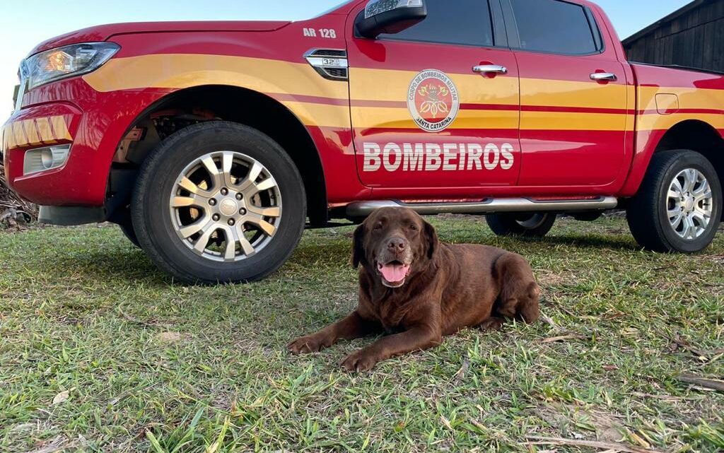
M 387 333 L 342 360 L 349 371 L 368 371 L 395 355 L 437 346 L 465 327 L 498 329 L 504 318 L 533 323 L 539 317 L 540 290 L 523 257 L 439 242 L 434 227 L 411 209 L 374 211 L 355 231 L 352 261 L 361 265 L 357 310 L 291 342 L 291 352 Z

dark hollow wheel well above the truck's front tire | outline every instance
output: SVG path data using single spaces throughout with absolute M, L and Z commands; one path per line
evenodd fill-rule
M 117 184 L 135 182 L 135 172 L 167 132 L 196 122 L 223 119 L 253 127 L 269 135 L 287 151 L 302 175 L 308 217 L 313 225 L 327 223 L 327 184 L 316 143 L 300 119 L 282 103 L 264 93 L 232 85 L 201 85 L 169 93 L 148 106 L 128 127 L 114 154 Z M 135 131 L 138 139 L 132 138 Z M 119 182 L 119 183 L 118 183 Z M 109 183 L 113 192 L 113 180 Z M 117 190 L 117 189 L 116 189 Z M 122 194 L 117 205 L 130 200 Z

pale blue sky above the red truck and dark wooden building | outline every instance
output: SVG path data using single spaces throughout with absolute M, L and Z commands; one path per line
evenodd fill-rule
M 27 1 L 27 0 L 26 0 Z M 41 41 L 114 22 L 170 20 L 303 20 L 342 0 L 0 0 L 0 123 L 12 110 L 17 67 Z M 450 0 L 455 1 L 455 0 Z M 597 0 L 626 38 L 689 0 Z

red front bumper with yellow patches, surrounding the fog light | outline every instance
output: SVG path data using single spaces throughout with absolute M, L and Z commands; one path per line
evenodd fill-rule
M 104 206 L 119 143 L 141 112 L 166 93 L 149 89 L 101 93 L 82 77 L 25 93 L 22 108 L 1 130 L 8 184 L 41 206 Z M 23 174 L 28 150 L 64 144 L 71 148 L 63 166 Z

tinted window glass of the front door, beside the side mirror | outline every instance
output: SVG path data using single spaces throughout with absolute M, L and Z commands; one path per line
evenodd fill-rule
M 427 17 L 407 30 L 378 39 L 493 46 L 488 0 L 427 0 Z

